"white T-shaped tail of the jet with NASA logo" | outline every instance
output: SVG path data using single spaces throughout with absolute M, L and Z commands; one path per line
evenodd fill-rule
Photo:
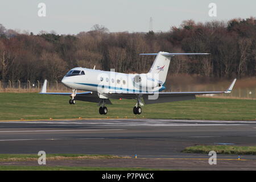
M 158 52 L 158 53 L 141 53 L 140 55 L 156 55 L 155 61 L 150 68 L 148 73 L 158 74 L 159 81 L 162 83 L 166 82 L 168 68 L 172 56 L 176 55 L 208 55 L 209 53 L 169 53 L 169 52 Z

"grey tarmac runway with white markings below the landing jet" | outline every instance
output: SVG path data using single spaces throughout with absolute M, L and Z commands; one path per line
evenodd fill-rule
M 1 154 L 110 154 L 151 159 L 208 159 L 185 154 L 195 144 L 254 146 L 256 121 L 79 119 L 0 122 Z M 256 160 L 253 155 L 242 159 Z M 237 159 L 237 155 L 218 155 Z M 255 163 L 255 162 L 254 162 Z M 208 164 L 209 165 L 209 164 Z

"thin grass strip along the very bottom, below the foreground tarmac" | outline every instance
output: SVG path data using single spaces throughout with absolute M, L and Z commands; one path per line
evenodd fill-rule
M 0 166 L 0 171 L 162 171 L 152 168 L 67 167 L 67 166 Z M 166 169 L 165 169 L 166 170 Z

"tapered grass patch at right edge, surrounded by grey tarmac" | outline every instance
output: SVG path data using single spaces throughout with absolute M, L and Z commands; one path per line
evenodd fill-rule
M 256 146 L 192 146 L 185 148 L 182 152 L 209 154 L 209 151 L 216 151 L 217 154 L 256 155 Z

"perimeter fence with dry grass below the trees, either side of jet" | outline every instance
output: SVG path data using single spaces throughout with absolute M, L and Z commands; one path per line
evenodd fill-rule
M 40 92 L 43 82 L 1 82 L 0 92 Z M 224 86 L 217 85 L 172 85 L 167 88 L 166 92 L 204 92 L 204 91 L 223 91 Z M 64 86 L 61 82 L 47 82 L 47 92 L 71 92 L 71 89 Z M 205 97 L 205 96 L 204 96 Z M 246 98 L 256 99 L 256 86 L 252 88 L 234 88 L 230 94 L 208 94 L 206 97 L 223 97 L 223 98 Z

